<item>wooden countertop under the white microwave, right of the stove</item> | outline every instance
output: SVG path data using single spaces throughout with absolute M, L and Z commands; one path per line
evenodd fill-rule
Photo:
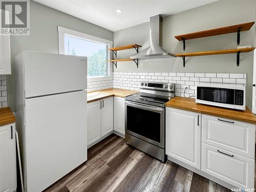
M 174 97 L 166 102 L 165 106 L 256 124 L 256 116 L 249 110 L 249 108 L 247 108 L 247 106 L 246 111 L 231 110 L 196 103 L 195 99 L 184 97 Z

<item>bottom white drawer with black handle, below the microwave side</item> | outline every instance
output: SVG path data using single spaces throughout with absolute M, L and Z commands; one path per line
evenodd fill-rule
M 254 188 L 254 160 L 202 143 L 202 170 L 239 188 Z

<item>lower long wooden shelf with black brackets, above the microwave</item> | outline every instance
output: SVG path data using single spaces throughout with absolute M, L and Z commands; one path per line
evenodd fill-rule
M 176 54 L 175 56 L 176 57 L 182 57 L 183 67 L 185 67 L 185 57 L 236 53 L 237 54 L 237 66 L 239 66 L 240 53 L 250 52 L 254 49 L 255 49 L 255 47 L 253 47 L 253 48 L 243 48 L 243 49 L 227 49 L 227 50 L 218 50 L 218 51 L 194 52 L 194 53 L 180 53 L 180 54 Z

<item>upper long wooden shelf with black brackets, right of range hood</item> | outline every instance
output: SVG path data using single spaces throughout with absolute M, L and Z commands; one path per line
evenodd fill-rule
M 237 33 L 237 44 L 239 45 L 240 44 L 240 31 L 248 31 L 253 26 L 253 24 L 254 24 L 254 22 L 249 22 L 249 23 L 232 25 L 232 26 L 221 27 L 221 28 L 216 28 L 216 29 L 209 29 L 209 30 L 205 30 L 205 31 L 177 35 L 177 36 L 175 36 L 175 38 L 183 41 L 183 50 L 184 51 L 185 51 L 185 40 L 201 38 L 201 37 L 209 37 L 209 36 L 215 36 L 215 35 L 223 35 L 223 34 L 227 34 L 227 33 Z

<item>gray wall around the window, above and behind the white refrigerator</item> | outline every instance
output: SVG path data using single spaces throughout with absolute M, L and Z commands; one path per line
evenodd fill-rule
M 15 111 L 15 56 L 24 50 L 58 53 L 57 26 L 113 41 L 112 31 L 30 1 L 30 35 L 11 36 L 12 75 L 8 76 L 8 104 L 13 111 Z

